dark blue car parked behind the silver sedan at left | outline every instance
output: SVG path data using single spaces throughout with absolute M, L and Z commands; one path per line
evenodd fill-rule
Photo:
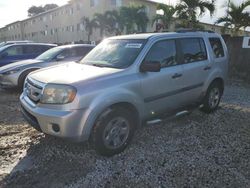
M 25 59 L 33 59 L 56 46 L 44 43 L 18 43 L 4 46 L 0 48 L 0 67 Z

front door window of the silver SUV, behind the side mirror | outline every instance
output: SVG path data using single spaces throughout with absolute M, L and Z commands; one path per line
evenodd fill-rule
M 158 61 L 161 63 L 161 67 L 177 65 L 175 40 L 155 43 L 147 54 L 145 61 Z

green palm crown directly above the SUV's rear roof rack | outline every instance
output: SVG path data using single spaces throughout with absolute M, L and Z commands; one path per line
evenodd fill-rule
M 209 11 L 210 16 L 215 11 L 215 0 L 180 0 L 176 5 L 176 14 L 184 22 L 188 22 L 188 27 L 195 27 L 198 17 Z

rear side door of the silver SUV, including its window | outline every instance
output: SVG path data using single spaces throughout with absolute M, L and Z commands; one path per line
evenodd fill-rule
M 183 64 L 183 105 L 195 103 L 202 96 L 202 88 L 211 65 L 203 38 L 178 39 L 181 49 L 181 63 Z

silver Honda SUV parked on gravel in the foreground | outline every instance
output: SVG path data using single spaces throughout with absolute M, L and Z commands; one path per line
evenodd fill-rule
M 37 130 L 91 140 L 102 155 L 125 149 L 142 122 L 193 107 L 217 109 L 228 52 L 213 32 L 105 39 L 80 63 L 29 74 L 22 112 Z

